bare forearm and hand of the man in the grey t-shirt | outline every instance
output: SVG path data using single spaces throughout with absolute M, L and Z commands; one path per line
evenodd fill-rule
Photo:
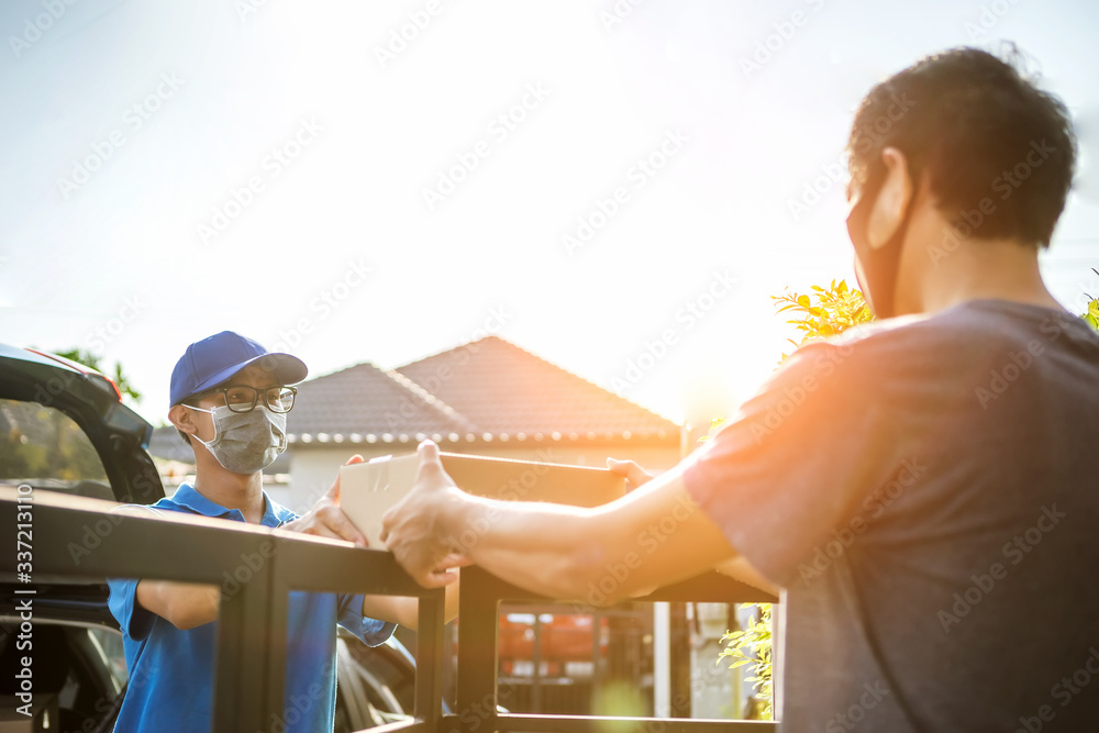
M 387 512 L 382 538 L 412 577 L 441 586 L 454 579 L 446 537 L 470 526 L 478 540 L 460 548 L 465 563 L 559 599 L 585 599 L 596 588 L 602 602 L 614 602 L 736 555 L 691 500 L 680 469 L 593 509 L 497 501 L 460 491 L 437 446 L 422 443 L 413 490 Z

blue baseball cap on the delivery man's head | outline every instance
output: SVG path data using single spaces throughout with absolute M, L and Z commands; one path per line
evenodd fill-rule
M 306 363 L 289 354 L 273 354 L 260 344 L 233 331 L 222 331 L 187 347 L 171 370 L 171 404 L 191 395 L 220 385 L 234 374 L 258 362 L 273 371 L 282 385 L 296 385 L 306 378 Z

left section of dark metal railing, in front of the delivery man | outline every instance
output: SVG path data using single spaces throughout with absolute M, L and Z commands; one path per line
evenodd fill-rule
M 33 517 L 33 569 L 27 590 L 33 590 L 35 581 L 103 577 L 222 586 L 226 569 L 242 563 L 248 567 L 247 580 L 233 586 L 233 592 L 222 593 L 213 733 L 265 731 L 270 721 L 282 719 L 291 590 L 419 598 L 413 719 L 375 730 L 439 730 L 443 591 L 421 588 L 391 554 L 182 514 L 123 517 L 111 513 L 108 502 L 48 491 L 34 491 L 25 503 L 16 503 L 12 489 L 0 492 L 0 526 L 14 527 L 16 511 L 27 507 Z M 74 552 L 74 544 L 88 552 Z M 0 553 L 0 573 L 15 574 L 15 558 L 14 552 Z M 33 595 L 20 598 L 31 599 L 33 606 Z

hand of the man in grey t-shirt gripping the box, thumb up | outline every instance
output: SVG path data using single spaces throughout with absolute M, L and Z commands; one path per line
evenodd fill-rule
M 448 514 L 465 497 L 439 460 L 439 446 L 420 444 L 420 466 L 408 496 L 381 518 L 381 541 L 397 562 L 424 588 L 440 588 L 458 579 L 449 568 L 467 565 L 451 546 Z

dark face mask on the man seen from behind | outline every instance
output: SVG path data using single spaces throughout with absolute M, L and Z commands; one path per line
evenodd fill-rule
M 908 232 L 908 215 L 911 211 L 911 202 L 904 209 L 900 225 L 889 241 L 875 249 L 870 246 L 867 229 L 869 226 L 870 211 L 874 202 L 881 192 L 880 180 L 873 185 L 867 182 L 858 199 L 858 203 L 847 215 L 847 236 L 855 246 L 855 277 L 858 279 L 858 287 L 866 296 L 866 301 L 870 310 L 879 319 L 887 319 L 897 315 L 897 270 L 900 267 L 900 253 L 903 248 L 904 234 Z M 862 267 L 859 267 L 862 265 Z M 863 278 L 866 281 L 863 281 Z

